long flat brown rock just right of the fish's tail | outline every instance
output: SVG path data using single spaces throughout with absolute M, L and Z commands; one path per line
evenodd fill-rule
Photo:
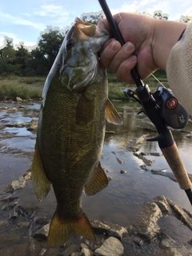
M 118 226 L 110 222 L 100 222 L 98 220 L 90 221 L 91 226 L 93 227 L 96 234 L 106 233 L 108 236 L 113 236 L 118 239 L 127 234 L 125 227 Z

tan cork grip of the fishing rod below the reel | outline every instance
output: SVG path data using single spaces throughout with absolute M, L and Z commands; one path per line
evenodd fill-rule
M 190 178 L 186 173 L 186 168 L 183 165 L 182 158 L 178 152 L 178 146 L 174 142 L 172 146 L 161 149 L 162 154 L 166 158 L 170 169 L 173 171 L 175 178 L 182 190 L 188 190 L 192 186 Z

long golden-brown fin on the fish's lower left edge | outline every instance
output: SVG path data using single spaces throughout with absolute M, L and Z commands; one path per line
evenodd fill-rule
M 46 178 L 45 171 L 38 151 L 38 145 L 35 146 L 34 159 L 31 168 L 31 179 L 34 186 L 34 192 L 39 200 L 46 198 L 50 191 L 50 181 Z

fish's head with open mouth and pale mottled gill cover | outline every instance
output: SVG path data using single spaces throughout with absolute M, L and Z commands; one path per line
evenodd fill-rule
M 82 90 L 98 79 L 98 50 L 110 38 L 108 30 L 75 18 L 62 43 L 59 79 L 69 90 Z

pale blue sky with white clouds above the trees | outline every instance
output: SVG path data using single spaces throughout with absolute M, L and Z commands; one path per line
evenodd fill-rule
M 118 12 L 148 12 L 156 10 L 178 21 L 181 15 L 192 15 L 191 0 L 106 0 L 112 14 Z M 96 0 L 0 0 L 0 48 L 4 37 L 13 38 L 14 46 L 35 46 L 46 26 L 63 29 L 71 26 L 75 17 L 102 10 Z

